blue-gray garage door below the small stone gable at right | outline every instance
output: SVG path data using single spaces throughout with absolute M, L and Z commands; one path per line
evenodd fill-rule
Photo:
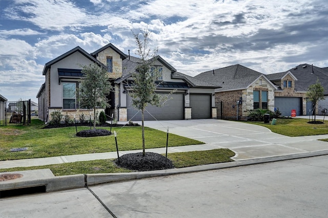
M 301 112 L 302 99 L 295 97 L 275 97 L 275 108 L 279 109 L 282 116 L 292 116 L 292 110 L 296 110 L 296 116 Z

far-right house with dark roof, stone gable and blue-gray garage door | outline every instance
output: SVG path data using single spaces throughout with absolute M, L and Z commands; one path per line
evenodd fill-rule
M 306 100 L 306 91 L 317 79 L 324 88 L 325 99 L 319 101 L 316 113 L 321 114 L 324 108 L 328 109 L 327 68 L 304 63 L 289 71 L 265 76 L 278 86 L 275 92 L 275 107 L 279 108 L 283 116 L 291 116 L 292 110 L 296 110 L 297 116 L 311 114 L 313 105 L 311 101 Z

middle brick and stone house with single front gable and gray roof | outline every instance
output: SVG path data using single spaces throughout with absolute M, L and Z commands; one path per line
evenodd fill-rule
M 194 78 L 222 86 L 215 90 L 215 101 L 222 102 L 223 119 L 247 119 L 249 111 L 257 108 L 274 111 L 278 88 L 262 73 L 235 64 Z

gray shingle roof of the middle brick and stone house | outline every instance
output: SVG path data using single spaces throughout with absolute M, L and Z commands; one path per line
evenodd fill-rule
M 260 76 L 264 75 L 240 64 L 235 64 L 230 67 L 200 73 L 194 78 L 222 86 L 222 88 L 216 90 L 221 92 L 246 89 Z

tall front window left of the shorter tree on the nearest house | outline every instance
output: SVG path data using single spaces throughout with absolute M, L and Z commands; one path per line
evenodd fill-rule
M 63 108 L 76 108 L 76 83 L 63 82 Z

